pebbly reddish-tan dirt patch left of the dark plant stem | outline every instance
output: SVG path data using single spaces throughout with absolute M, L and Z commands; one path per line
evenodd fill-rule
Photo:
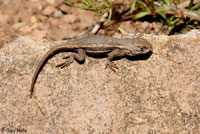
M 0 0 L 0 46 L 19 36 L 61 40 L 96 22 L 94 13 L 63 0 Z

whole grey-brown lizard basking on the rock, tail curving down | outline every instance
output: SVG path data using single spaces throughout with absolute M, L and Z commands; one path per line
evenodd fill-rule
M 72 38 L 67 42 L 60 43 L 47 51 L 36 66 L 32 77 L 30 88 L 30 97 L 32 98 L 34 92 L 34 85 L 37 77 L 42 70 L 45 63 L 50 57 L 61 52 L 72 52 L 68 56 L 63 57 L 66 61 L 57 67 L 67 67 L 74 60 L 84 62 L 85 55 L 88 56 L 107 56 L 106 67 L 110 67 L 113 71 L 117 68 L 112 62 L 115 57 L 136 56 L 152 52 L 152 45 L 144 38 L 115 38 L 106 35 L 89 35 L 82 38 Z

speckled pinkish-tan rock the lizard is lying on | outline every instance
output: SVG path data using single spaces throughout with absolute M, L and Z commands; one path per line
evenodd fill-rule
M 10 133 L 199 134 L 200 32 L 145 35 L 153 54 L 145 60 L 86 57 L 67 68 L 57 54 L 30 84 L 38 61 L 55 45 L 21 37 L 0 49 L 0 130 Z

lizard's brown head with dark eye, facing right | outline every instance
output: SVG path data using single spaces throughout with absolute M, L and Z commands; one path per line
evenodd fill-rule
M 152 51 L 151 44 L 143 38 L 132 40 L 132 43 L 129 44 L 128 46 L 129 46 L 129 51 L 126 52 L 128 56 L 146 54 Z

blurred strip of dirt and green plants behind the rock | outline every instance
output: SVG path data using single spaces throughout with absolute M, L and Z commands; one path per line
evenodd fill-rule
M 19 36 L 173 35 L 200 29 L 200 0 L 0 0 L 0 47 Z M 101 22 L 100 22 L 101 21 Z

